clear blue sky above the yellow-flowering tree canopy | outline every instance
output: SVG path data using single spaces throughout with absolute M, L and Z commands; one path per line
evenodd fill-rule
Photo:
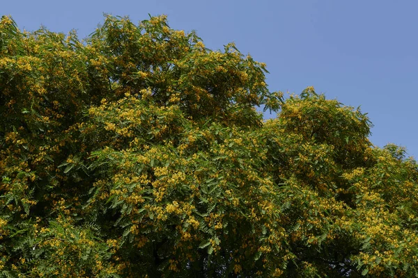
M 374 124 L 371 141 L 407 147 L 418 157 L 418 1 L 2 1 L 20 28 L 76 29 L 80 38 L 103 13 L 139 22 L 168 15 L 172 28 L 196 30 L 210 49 L 235 42 L 268 65 L 270 90 L 313 85 L 329 99 L 361 106 Z M 268 117 L 268 115 L 266 115 Z

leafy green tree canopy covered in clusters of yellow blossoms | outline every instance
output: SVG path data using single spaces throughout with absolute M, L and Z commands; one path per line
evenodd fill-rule
M 2 17 L 0 275 L 418 275 L 417 163 L 266 72 L 163 16 L 85 41 Z

